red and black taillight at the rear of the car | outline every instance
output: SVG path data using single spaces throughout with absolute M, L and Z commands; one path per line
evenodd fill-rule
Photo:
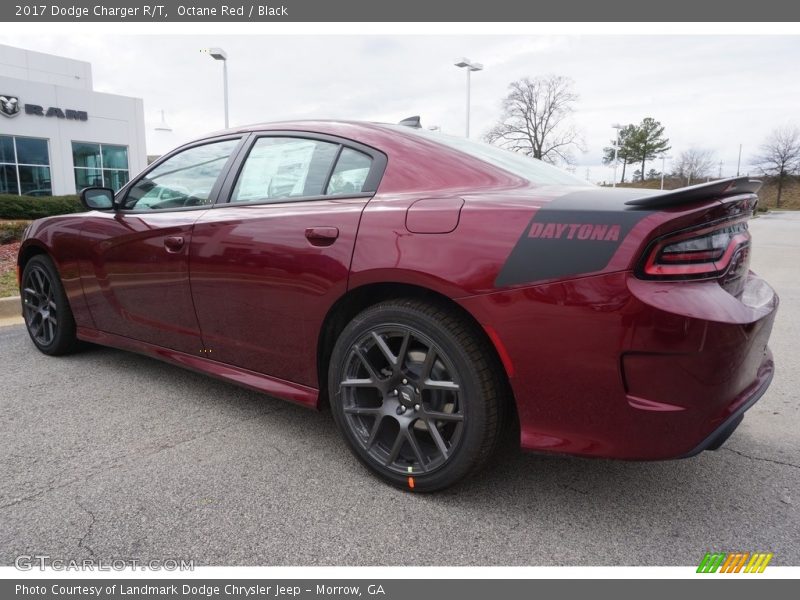
M 639 274 L 655 279 L 719 277 L 732 263 L 737 271 L 747 269 L 749 246 L 747 218 L 695 227 L 653 242 Z

